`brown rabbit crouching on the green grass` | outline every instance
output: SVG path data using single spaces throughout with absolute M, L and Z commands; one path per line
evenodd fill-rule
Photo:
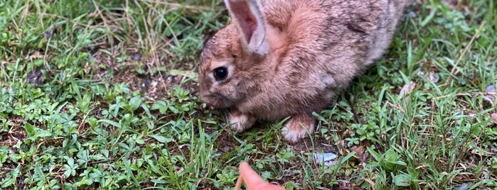
M 311 113 L 389 46 L 409 0 L 225 0 L 232 22 L 205 43 L 201 99 L 246 130 L 290 116 L 282 135 L 313 133 Z

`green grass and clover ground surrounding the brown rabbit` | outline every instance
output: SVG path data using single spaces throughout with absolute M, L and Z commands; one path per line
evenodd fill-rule
M 497 188 L 496 1 L 415 2 L 299 145 L 281 123 L 233 133 L 198 98 L 198 52 L 224 10 L 0 2 L 0 188 L 230 189 L 244 160 L 287 189 Z

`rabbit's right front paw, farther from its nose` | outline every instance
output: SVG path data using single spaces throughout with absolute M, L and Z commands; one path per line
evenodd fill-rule
M 307 114 L 292 116 L 282 128 L 282 135 L 290 143 L 305 138 L 307 133 L 314 133 L 314 117 Z

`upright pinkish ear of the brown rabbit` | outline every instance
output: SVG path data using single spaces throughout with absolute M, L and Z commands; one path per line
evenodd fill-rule
M 266 38 L 266 21 L 255 0 L 225 0 L 231 19 L 240 30 L 240 38 L 248 52 L 266 55 L 269 44 Z

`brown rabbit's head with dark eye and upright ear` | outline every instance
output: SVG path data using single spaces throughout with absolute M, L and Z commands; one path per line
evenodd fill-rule
M 215 33 L 201 53 L 201 99 L 229 108 L 257 93 L 271 78 L 266 24 L 255 1 L 225 0 L 232 23 Z

